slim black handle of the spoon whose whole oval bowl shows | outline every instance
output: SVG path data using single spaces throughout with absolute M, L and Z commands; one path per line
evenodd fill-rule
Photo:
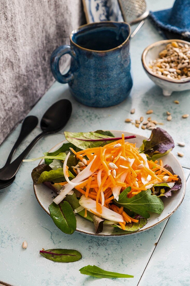
M 32 149 L 34 144 L 45 134 L 45 132 L 38 134 L 29 144 L 29 146 L 11 164 L 9 164 L 7 167 L 3 168 L 2 171 L 0 171 L 0 180 L 9 180 L 16 175 L 20 165 L 22 164 L 23 159 Z

